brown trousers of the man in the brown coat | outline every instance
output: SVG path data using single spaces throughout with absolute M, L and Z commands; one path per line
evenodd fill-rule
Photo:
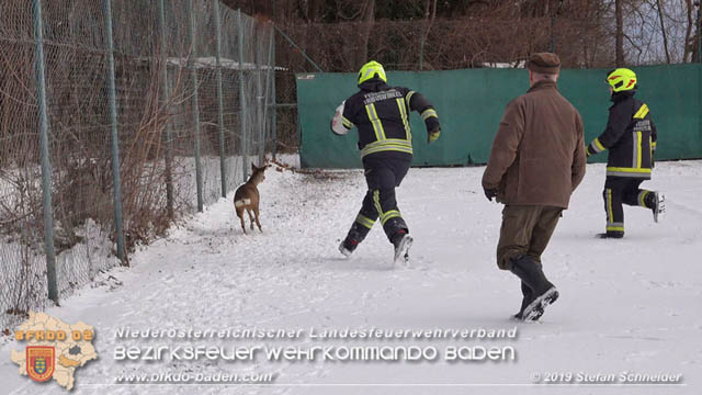
M 563 208 L 536 205 L 506 205 L 502 210 L 497 266 L 509 270 L 512 259 L 530 256 L 541 263 Z

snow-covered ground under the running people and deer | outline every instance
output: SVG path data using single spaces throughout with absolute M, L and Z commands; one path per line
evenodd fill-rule
M 242 235 L 220 200 L 169 237 L 134 255 L 48 314 L 95 327 L 99 360 L 76 372 L 77 394 L 699 394 L 702 379 L 702 161 L 657 163 L 649 189 L 668 214 L 625 207 L 626 238 L 599 240 L 604 168 L 588 166 L 543 257 L 561 298 L 537 324 L 508 318 L 521 301 L 517 278 L 499 271 L 501 205 L 480 189 L 484 168 L 411 169 L 398 201 L 415 237 L 409 268 L 392 267 L 380 227 L 350 260 L 337 246 L 364 194 L 362 172 L 270 169 L 260 185 L 261 224 Z M 247 219 L 248 223 L 248 219 Z M 377 226 L 377 225 L 376 225 Z M 293 340 L 118 339 L 133 329 L 302 329 Z M 318 340 L 310 328 L 512 329 L 517 339 Z M 18 374 L 0 349 L 0 393 L 63 393 Z M 125 346 L 420 346 L 434 362 L 115 361 Z M 513 347 L 516 360 L 445 361 L 448 347 Z M 267 385 L 116 384 L 121 374 L 257 373 Z M 566 384 L 567 374 L 682 374 L 677 385 Z M 559 376 L 564 374 L 565 376 Z M 537 376 L 539 375 L 539 376 Z M 562 384 L 533 384 L 547 377 Z M 573 381 L 575 379 L 570 379 Z

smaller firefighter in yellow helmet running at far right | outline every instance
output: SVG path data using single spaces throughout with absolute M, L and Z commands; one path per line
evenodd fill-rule
M 655 222 L 664 212 L 663 194 L 638 188 L 650 180 L 658 136 L 648 105 L 634 98 L 638 87 L 634 71 L 618 68 L 608 72 L 607 82 L 614 104 L 610 108 L 607 128 L 590 143 L 587 155 L 609 149 L 603 192 L 607 232 L 598 237 L 622 238 L 622 204 L 652 210 Z

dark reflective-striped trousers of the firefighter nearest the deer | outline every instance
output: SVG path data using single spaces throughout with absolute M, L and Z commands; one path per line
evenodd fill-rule
M 410 156 L 407 156 L 407 158 L 376 158 L 370 156 L 363 159 L 369 190 L 365 198 L 363 198 L 361 210 L 351 225 L 347 239 L 353 239 L 356 244 L 363 241 L 378 218 L 390 242 L 399 230 L 409 233 L 407 224 L 397 207 L 395 188 L 399 187 L 409 170 L 410 163 Z

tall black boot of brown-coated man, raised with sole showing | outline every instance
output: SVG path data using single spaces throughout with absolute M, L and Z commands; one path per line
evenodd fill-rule
M 511 261 L 509 270 L 531 289 L 532 300 L 521 311 L 523 320 L 536 320 L 544 314 L 546 307 L 558 298 L 558 291 L 544 275 L 542 266 L 529 256 L 522 256 Z M 522 303 L 528 301 L 522 301 Z

